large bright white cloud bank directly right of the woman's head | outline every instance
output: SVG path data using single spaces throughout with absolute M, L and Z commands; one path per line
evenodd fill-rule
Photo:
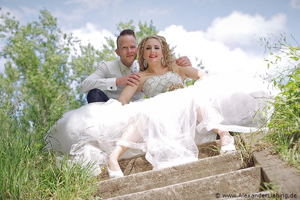
M 176 32 L 176 35 L 174 35 Z M 176 46 L 175 53 L 190 58 L 192 65 L 196 66 L 195 57 L 202 59 L 204 70 L 209 74 L 221 72 L 244 72 L 255 74 L 266 69 L 264 57 L 246 52 L 241 48 L 231 50 L 224 43 L 206 38 L 202 31 L 186 31 L 182 26 L 172 25 L 160 31 L 170 46 Z

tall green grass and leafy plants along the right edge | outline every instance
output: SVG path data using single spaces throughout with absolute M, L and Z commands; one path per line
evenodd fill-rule
M 274 114 L 265 142 L 284 162 L 300 170 L 300 46 L 295 40 L 296 45 L 289 44 L 285 35 L 274 38 L 261 39 L 273 56 L 266 60 L 268 67 L 275 69 L 272 82 L 281 90 L 273 103 Z

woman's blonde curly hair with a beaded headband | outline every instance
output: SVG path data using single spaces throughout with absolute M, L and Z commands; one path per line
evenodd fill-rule
M 175 61 L 173 54 L 171 53 L 171 50 L 169 48 L 168 43 L 166 42 L 166 39 L 162 36 L 148 36 L 144 39 L 142 39 L 140 41 L 140 43 L 138 44 L 138 64 L 139 64 L 139 71 L 143 72 L 145 71 L 147 68 L 144 67 L 143 65 L 143 54 L 144 54 L 144 44 L 148 39 L 157 39 L 161 45 L 162 45 L 162 49 L 163 49 L 163 57 L 165 59 L 166 62 L 166 66 L 173 71 L 173 66 L 172 63 Z

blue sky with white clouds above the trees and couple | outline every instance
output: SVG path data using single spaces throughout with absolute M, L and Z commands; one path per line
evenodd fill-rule
M 267 34 L 285 32 L 300 42 L 300 0 L 0 0 L 0 7 L 21 24 L 37 20 L 46 8 L 64 32 L 99 49 L 105 36 L 118 34 L 120 21 L 137 26 L 153 20 L 177 56 L 188 56 L 194 65 L 196 57 L 202 59 L 210 74 L 266 69 L 265 49 L 257 41 Z

